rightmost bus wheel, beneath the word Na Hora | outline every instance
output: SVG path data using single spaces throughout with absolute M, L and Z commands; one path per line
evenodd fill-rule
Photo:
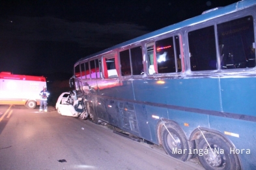
M 208 147 L 205 138 L 201 136 L 198 142 L 198 149 L 203 152 L 198 154 L 197 157 L 205 169 L 241 169 L 238 156 L 230 153 L 230 149 L 233 146 L 229 141 L 218 134 L 212 134 L 210 132 L 206 132 L 204 135 L 212 150 Z M 215 156 L 212 151 L 214 151 Z

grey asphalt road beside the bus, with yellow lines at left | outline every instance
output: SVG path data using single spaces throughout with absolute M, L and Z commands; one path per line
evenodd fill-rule
M 0 169 L 203 169 L 74 117 L 0 105 Z

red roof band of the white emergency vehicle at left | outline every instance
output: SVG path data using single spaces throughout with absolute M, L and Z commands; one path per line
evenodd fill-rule
M 5 71 L 2 71 L 0 73 L 0 79 L 30 80 L 30 81 L 46 82 L 45 77 L 32 76 L 32 75 L 13 75 L 12 73 L 5 72 Z

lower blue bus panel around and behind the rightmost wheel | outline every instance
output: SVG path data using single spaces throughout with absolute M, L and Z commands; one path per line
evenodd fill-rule
M 235 145 L 237 150 L 231 149 L 229 153 L 238 154 L 243 162 L 242 165 L 244 166 L 244 169 L 256 169 L 256 123 L 251 121 L 241 121 L 239 119 L 227 119 L 225 117 L 214 115 L 210 115 L 209 120 L 212 129 L 221 130 L 221 133 Z

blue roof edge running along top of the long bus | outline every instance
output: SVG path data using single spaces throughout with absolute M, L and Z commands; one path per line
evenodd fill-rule
M 233 3 L 233 4 L 225 6 L 225 7 L 214 8 L 215 10 L 209 10 L 209 12 L 205 12 L 205 13 L 201 14 L 200 16 L 195 16 L 194 18 L 186 19 L 186 20 L 181 21 L 179 23 L 175 23 L 173 25 L 169 25 L 169 26 L 164 27 L 162 29 L 155 30 L 155 31 L 150 32 L 148 34 L 145 34 L 143 36 L 139 36 L 139 37 L 134 38 L 132 40 L 128 40 L 128 41 L 123 42 L 123 43 L 119 43 L 118 45 L 114 45 L 113 47 L 109 47 L 107 49 L 104 49 L 103 51 L 99 51 L 98 53 L 94 53 L 92 55 L 80 58 L 76 62 L 76 64 L 78 62 L 80 62 L 81 60 L 85 60 L 86 58 L 91 58 L 92 56 L 101 55 L 101 54 L 107 53 L 109 51 L 112 51 L 114 49 L 124 47 L 126 45 L 130 45 L 132 43 L 141 42 L 141 41 L 147 40 L 149 38 L 154 38 L 154 37 L 160 36 L 161 34 L 164 34 L 166 32 L 171 32 L 173 30 L 181 29 L 182 27 L 188 27 L 190 25 L 195 25 L 197 23 L 201 23 L 203 21 L 207 21 L 209 19 L 213 19 L 213 18 L 216 18 L 218 16 L 223 16 L 224 14 L 229 14 L 229 13 L 235 12 L 237 10 L 242 10 L 244 8 L 248 8 L 249 6 L 253 6 L 253 5 L 256 5 L 255 0 L 243 0 L 243 1 L 238 1 L 237 3 Z

